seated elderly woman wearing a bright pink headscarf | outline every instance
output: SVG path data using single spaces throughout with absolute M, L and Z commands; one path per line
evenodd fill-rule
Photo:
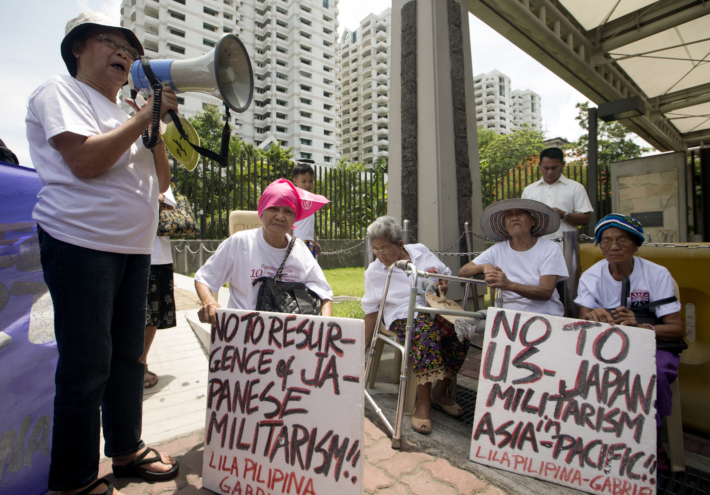
M 261 194 L 258 214 L 262 227 L 236 232 L 195 273 L 195 289 L 202 301 L 200 321 L 217 325 L 214 310 L 220 308 L 212 293 L 229 282 L 229 308 L 254 310 L 261 277 L 273 277 L 286 256 L 291 228 L 315 213 L 327 198 L 298 189 L 286 179 L 271 183 Z M 332 316 L 333 291 L 307 246 L 295 242 L 286 257 L 283 281 L 301 282 L 320 297 L 323 316 Z

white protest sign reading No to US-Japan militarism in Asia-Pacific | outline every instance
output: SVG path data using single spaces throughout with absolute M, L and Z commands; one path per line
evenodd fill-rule
M 651 330 L 488 308 L 471 460 L 655 494 L 655 353 Z

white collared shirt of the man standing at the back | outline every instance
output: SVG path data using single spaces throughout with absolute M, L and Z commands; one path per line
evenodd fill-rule
M 525 187 L 520 197 L 523 200 L 539 201 L 550 208 L 559 208 L 569 213 L 586 213 L 594 210 L 584 186 L 564 175 L 560 175 L 559 180 L 552 185 L 546 183 L 545 178 L 542 178 Z M 562 232 L 569 230 L 577 230 L 577 227 L 561 220 L 557 232 L 542 236 L 542 239 L 555 239 L 555 237 L 561 236 Z M 559 244 L 559 247 L 562 248 L 562 243 Z

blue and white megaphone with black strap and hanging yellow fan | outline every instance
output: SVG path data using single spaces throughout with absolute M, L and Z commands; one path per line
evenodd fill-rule
M 254 77 L 249 54 L 244 43 L 232 33 L 225 33 L 219 38 L 214 50 L 201 57 L 187 60 L 156 59 L 144 57 L 136 60 L 131 66 L 131 85 L 138 92 L 154 95 L 153 124 L 151 135 L 158 136 L 160 121 L 158 109 L 160 103 L 159 89 L 170 85 L 176 93 L 202 92 L 222 99 L 226 104 L 227 122 L 222 131 L 222 150 L 217 155 L 213 151 L 200 148 L 199 136 L 184 116 L 170 111 L 163 116 L 168 124 L 163 139 L 170 153 L 178 161 L 192 170 L 197 165 L 197 153 L 226 164 L 226 150 L 229 141 L 229 109 L 243 112 L 249 108 L 254 91 Z M 158 89 L 158 96 L 155 96 Z M 148 132 L 143 134 L 143 143 L 151 147 L 151 141 L 157 142 L 157 137 L 148 139 Z M 197 143 L 195 143 L 197 141 Z M 152 143 L 155 146 L 155 142 Z

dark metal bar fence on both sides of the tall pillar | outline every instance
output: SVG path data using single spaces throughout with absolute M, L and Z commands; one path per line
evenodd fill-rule
M 229 212 L 256 210 L 261 191 L 274 180 L 291 179 L 293 162 L 271 163 L 266 158 L 230 157 L 227 166 L 205 161 L 192 172 L 173 161 L 173 177 L 178 192 L 187 197 L 200 221 L 200 235 L 173 236 L 173 239 L 226 239 Z M 358 171 L 315 166 L 312 192 L 331 202 L 316 214 L 319 239 L 363 239 L 365 230 L 377 217 L 387 214 L 387 174 L 383 167 Z M 586 165 L 564 167 L 567 178 L 587 185 Z M 535 165 L 481 167 L 481 199 L 484 209 L 492 202 L 520 197 L 525 186 L 540 180 Z M 599 218 L 611 213 L 611 172 L 599 165 Z M 582 232 L 586 233 L 586 228 Z

